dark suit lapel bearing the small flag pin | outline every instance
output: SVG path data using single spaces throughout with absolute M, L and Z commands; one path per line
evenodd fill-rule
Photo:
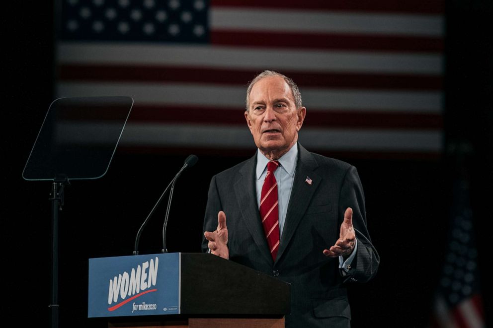
M 314 172 L 318 167 L 318 164 L 313 158 L 313 155 L 300 144 L 298 145 L 298 162 L 296 164 L 293 189 L 291 191 L 291 196 L 289 197 L 286 221 L 284 223 L 284 230 L 282 232 L 276 262 L 281 258 L 284 250 L 286 250 L 300 220 L 305 214 L 308 204 L 322 180 L 322 178 Z M 312 179 L 311 184 L 306 182 L 307 177 Z

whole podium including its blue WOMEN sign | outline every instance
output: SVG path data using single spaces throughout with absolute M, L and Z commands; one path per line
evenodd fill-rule
M 284 327 L 290 285 L 211 254 L 89 260 L 88 317 L 108 327 Z

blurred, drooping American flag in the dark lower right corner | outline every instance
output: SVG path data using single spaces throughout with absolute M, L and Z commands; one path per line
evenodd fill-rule
M 434 301 L 432 328 L 484 328 L 472 211 L 467 182 L 454 186 L 446 258 Z

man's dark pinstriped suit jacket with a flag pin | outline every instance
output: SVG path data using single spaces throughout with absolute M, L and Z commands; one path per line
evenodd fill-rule
M 226 213 L 230 260 L 291 283 L 291 315 L 286 327 L 349 327 L 346 282 L 365 282 L 377 272 L 379 256 L 366 228 L 363 189 L 356 168 L 308 152 L 299 145 L 284 230 L 272 261 L 260 222 L 255 191 L 256 154 L 212 178 L 204 231 L 217 228 L 217 213 Z M 312 179 L 312 184 L 305 180 Z M 339 260 L 322 251 L 339 238 L 347 207 L 353 209 L 358 240 L 349 274 Z M 207 240 L 203 240 L 207 251 Z

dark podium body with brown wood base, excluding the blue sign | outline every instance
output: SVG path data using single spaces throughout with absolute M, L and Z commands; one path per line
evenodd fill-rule
M 284 327 L 288 283 L 215 255 L 175 254 L 180 256 L 179 314 L 107 318 L 108 327 Z

